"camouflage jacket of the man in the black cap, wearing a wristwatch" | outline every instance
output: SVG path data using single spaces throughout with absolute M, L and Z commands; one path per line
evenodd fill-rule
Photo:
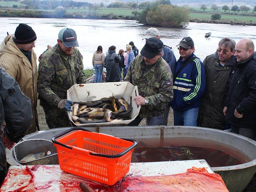
M 166 104 L 173 98 L 172 72 L 163 58 L 148 68 L 142 55 L 138 55 L 130 64 L 124 81 L 138 86 L 139 95 L 149 101 L 141 105 L 140 116 L 143 118 L 164 113 Z

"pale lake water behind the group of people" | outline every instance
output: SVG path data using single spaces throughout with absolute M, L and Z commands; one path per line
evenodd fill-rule
M 133 41 L 139 49 L 145 44 L 142 40 L 148 26 L 136 23 L 134 20 L 85 20 L 85 19 L 46 19 L 46 18 L 0 18 L 0 40 L 3 41 L 6 32 L 14 34 L 19 23 L 31 26 L 37 35 L 37 57 L 46 50 L 47 45 L 57 43 L 60 29 L 72 28 L 76 31 L 79 50 L 84 57 L 84 68 L 92 68 L 92 55 L 101 45 L 103 52 L 111 45 L 116 46 L 116 52 L 124 49 L 126 44 Z M 172 47 L 178 59 L 180 57 L 176 45 L 182 37 L 190 36 L 195 43 L 196 56 L 202 61 L 218 48 L 218 42 L 223 37 L 230 37 L 236 42 L 244 37 L 252 39 L 256 45 L 255 26 L 231 26 L 210 23 L 189 23 L 187 28 L 157 27 L 161 40 L 165 45 Z M 211 32 L 210 38 L 204 38 L 205 33 Z

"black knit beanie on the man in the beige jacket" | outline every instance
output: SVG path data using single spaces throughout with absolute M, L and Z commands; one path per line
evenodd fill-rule
M 14 41 L 18 44 L 27 44 L 36 40 L 35 31 L 28 25 L 20 23 L 14 33 Z

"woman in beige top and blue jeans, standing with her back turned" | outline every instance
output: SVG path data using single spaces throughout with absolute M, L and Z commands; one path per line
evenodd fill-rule
M 102 52 L 102 46 L 98 46 L 97 51 L 92 56 L 92 66 L 95 69 L 94 83 L 101 83 L 103 67 L 105 67 L 105 54 Z

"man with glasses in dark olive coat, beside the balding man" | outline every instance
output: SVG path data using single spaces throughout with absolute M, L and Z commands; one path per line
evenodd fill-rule
M 235 45 L 234 40 L 222 38 L 217 51 L 204 59 L 206 89 L 197 118 L 201 127 L 225 129 L 224 93 L 229 73 L 236 62 Z

